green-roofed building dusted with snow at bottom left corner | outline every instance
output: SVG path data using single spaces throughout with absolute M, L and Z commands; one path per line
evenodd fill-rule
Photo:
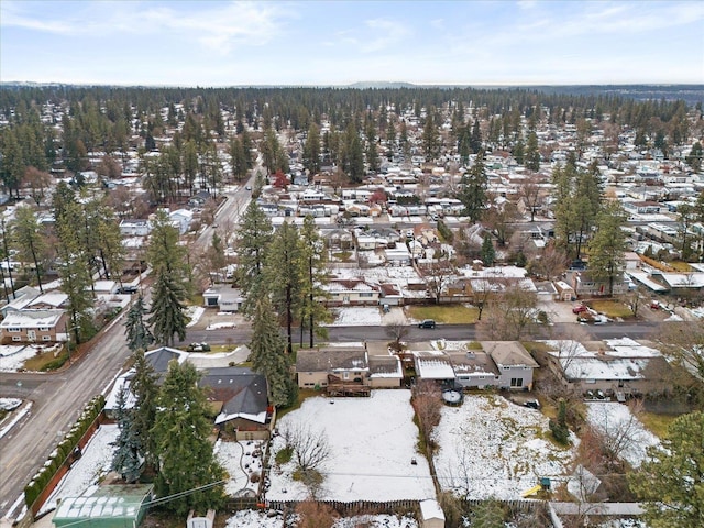
M 152 487 L 151 484 L 111 484 L 98 487 L 89 496 L 63 498 L 52 521 L 56 528 L 138 528 L 146 513 Z

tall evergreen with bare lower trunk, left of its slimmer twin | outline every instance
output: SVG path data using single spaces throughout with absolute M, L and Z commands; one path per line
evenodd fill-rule
M 264 277 L 272 304 L 286 322 L 288 353 L 294 352 L 293 326 L 300 312 L 304 262 L 296 226 L 284 222 L 270 245 Z

